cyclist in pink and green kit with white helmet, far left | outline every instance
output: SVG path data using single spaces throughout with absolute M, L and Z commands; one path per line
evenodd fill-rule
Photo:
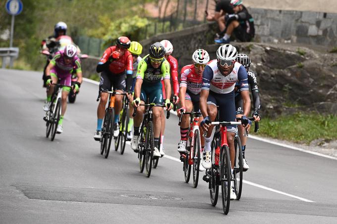
M 78 91 L 82 83 L 82 70 L 80 59 L 76 55 L 77 48 L 75 45 L 67 45 L 63 50 L 57 51 L 54 58 L 51 60 L 46 68 L 46 85 L 47 100 L 43 109 L 48 111 L 51 105 L 52 94 L 54 92 L 54 86 L 52 84 L 59 83 L 65 87 L 62 90 L 61 99 L 61 116 L 57 124 L 56 133 L 63 132 L 63 116 L 67 108 L 67 98 L 71 91 L 71 74 L 73 69 L 76 71 L 78 80 L 74 86 L 74 92 Z

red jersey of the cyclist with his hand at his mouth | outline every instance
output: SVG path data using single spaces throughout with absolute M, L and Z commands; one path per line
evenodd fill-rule
M 108 61 L 108 58 L 112 54 L 113 51 L 115 51 L 116 46 L 111 46 L 108 49 L 104 51 L 104 54 L 100 60 L 102 63 L 106 63 Z M 112 72 L 112 74 L 120 74 L 126 71 L 131 71 L 132 74 L 132 64 L 133 59 L 132 55 L 128 50 L 125 50 L 125 53 L 122 56 L 119 56 L 118 59 L 113 60 L 109 65 L 109 70 Z

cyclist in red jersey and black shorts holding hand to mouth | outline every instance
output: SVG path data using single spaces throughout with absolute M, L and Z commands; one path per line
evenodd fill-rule
M 100 91 L 113 91 L 123 93 L 129 90 L 132 84 L 133 59 L 131 53 L 127 50 L 131 41 L 127 37 L 119 37 L 116 45 L 110 46 L 104 51 L 104 54 L 97 65 L 96 71 L 101 72 Z M 126 85 L 125 85 L 126 73 Z M 126 89 L 125 89 L 126 87 Z M 131 94 L 126 93 L 130 99 Z M 97 107 L 97 129 L 94 135 L 95 140 L 101 139 L 102 123 L 105 116 L 105 106 L 108 101 L 109 93 L 100 92 L 100 103 Z M 115 95 L 115 116 L 113 136 L 119 134 L 119 113 L 122 108 L 123 95 Z

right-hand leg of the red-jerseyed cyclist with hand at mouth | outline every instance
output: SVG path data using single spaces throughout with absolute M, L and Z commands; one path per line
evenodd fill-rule
M 113 91 L 125 92 L 125 74 L 113 77 Z M 115 95 L 114 97 L 114 123 L 118 123 L 120 110 L 123 106 L 123 95 Z

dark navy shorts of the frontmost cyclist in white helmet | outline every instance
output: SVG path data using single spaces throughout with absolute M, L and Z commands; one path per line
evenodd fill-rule
M 219 121 L 236 121 L 234 90 L 221 94 L 210 90 L 207 98 L 207 104 L 219 106 Z M 228 125 L 227 131 L 236 133 L 236 125 Z

